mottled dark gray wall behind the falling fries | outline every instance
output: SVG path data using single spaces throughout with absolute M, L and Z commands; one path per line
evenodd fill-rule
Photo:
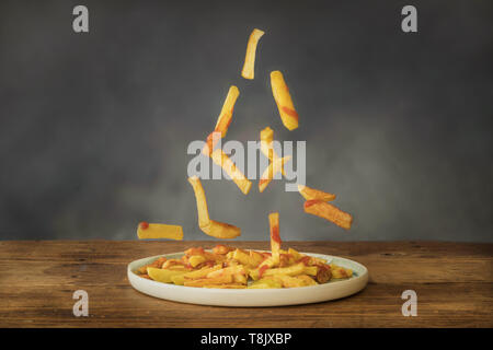
M 71 10 L 90 10 L 74 34 Z M 307 184 L 354 214 L 345 232 L 302 211 L 282 182 L 249 196 L 204 182 L 213 219 L 267 238 L 492 237 L 492 2 L 2 1 L 0 237 L 136 238 L 139 221 L 196 223 L 187 144 L 211 131 L 230 84 L 241 91 L 227 139 L 307 140 Z M 263 28 L 254 81 L 240 69 Z M 287 131 L 268 72 L 300 115 Z

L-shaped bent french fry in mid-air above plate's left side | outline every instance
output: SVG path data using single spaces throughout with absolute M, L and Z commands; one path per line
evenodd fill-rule
M 200 230 L 209 236 L 216 238 L 228 240 L 238 237 L 241 234 L 240 228 L 209 219 L 209 211 L 207 209 L 207 201 L 200 179 L 197 176 L 192 176 L 188 177 L 188 183 L 192 185 L 195 192 L 198 212 L 198 226 Z

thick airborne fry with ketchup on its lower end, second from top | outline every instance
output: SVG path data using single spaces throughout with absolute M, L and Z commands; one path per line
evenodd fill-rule
M 271 86 L 284 126 L 289 131 L 295 130 L 298 128 L 298 113 L 293 104 L 283 73 L 278 70 L 271 72 Z

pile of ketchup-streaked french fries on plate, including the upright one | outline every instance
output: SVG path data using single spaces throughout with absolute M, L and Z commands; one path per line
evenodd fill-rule
M 268 215 L 271 252 L 244 250 L 222 244 L 211 250 L 192 247 L 180 259 L 160 257 L 135 271 L 163 283 L 217 289 L 297 288 L 353 276 L 324 259 L 280 248 L 279 214 Z

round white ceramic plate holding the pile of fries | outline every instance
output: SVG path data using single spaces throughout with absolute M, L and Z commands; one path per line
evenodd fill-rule
M 302 253 L 326 259 L 335 265 L 353 270 L 353 277 L 332 280 L 324 284 L 285 288 L 285 289 L 210 289 L 161 283 L 134 273 L 144 265 L 151 264 L 158 257 L 179 259 L 183 253 L 152 256 L 128 264 L 127 276 L 131 287 L 145 294 L 181 303 L 216 306 L 282 306 L 324 302 L 359 292 L 368 282 L 365 266 L 337 256 Z

